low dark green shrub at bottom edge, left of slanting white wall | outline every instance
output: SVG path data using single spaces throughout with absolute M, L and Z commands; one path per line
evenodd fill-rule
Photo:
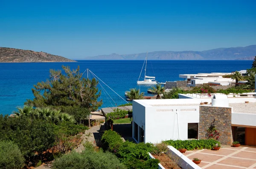
M 158 169 L 158 163 L 160 163 L 158 159 L 141 161 L 137 158 L 131 158 L 129 161 L 124 162 L 128 169 Z

